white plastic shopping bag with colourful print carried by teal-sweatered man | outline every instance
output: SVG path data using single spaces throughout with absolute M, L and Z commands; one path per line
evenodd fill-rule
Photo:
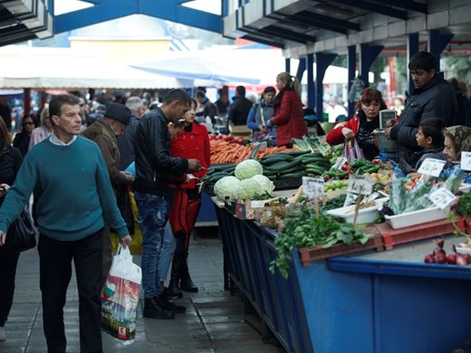
M 130 248 L 120 245 L 101 293 L 101 329 L 125 344 L 136 337 L 141 279 L 140 267 L 132 262 Z

